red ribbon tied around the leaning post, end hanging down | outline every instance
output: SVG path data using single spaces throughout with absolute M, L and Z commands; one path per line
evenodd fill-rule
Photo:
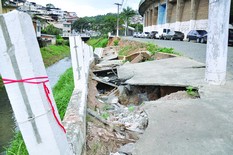
M 28 79 L 22 79 L 22 80 L 13 80 L 13 79 L 6 79 L 6 78 L 2 78 L 3 83 L 6 84 L 12 84 L 12 83 L 27 83 L 27 84 L 43 84 L 43 88 L 44 88 L 44 92 L 46 95 L 46 98 L 52 108 L 52 113 L 53 116 L 57 122 L 57 124 L 62 128 L 62 130 L 66 133 L 66 129 L 64 128 L 64 126 L 61 124 L 61 122 L 59 121 L 59 119 L 57 118 L 57 115 L 55 113 L 55 108 L 52 104 L 52 100 L 49 96 L 50 91 L 48 89 L 48 87 L 46 86 L 46 83 L 49 82 L 48 77 L 47 76 L 41 76 L 41 77 L 35 77 L 35 78 L 28 78 Z M 40 80 L 40 81 L 39 81 Z

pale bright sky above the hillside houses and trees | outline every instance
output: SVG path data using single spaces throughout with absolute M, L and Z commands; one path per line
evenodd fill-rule
M 76 12 L 78 17 L 96 16 L 106 13 L 117 13 L 117 6 L 114 3 L 122 3 L 123 7 L 127 6 L 138 9 L 140 0 L 28 0 L 45 6 L 48 3 L 64 11 Z M 122 10 L 121 8 L 121 10 Z

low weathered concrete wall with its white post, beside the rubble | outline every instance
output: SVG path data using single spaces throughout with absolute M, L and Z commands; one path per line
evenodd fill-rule
M 93 48 L 81 37 L 69 37 L 75 88 L 71 96 L 63 124 L 74 155 L 85 154 L 86 107 L 89 68 L 94 60 Z

